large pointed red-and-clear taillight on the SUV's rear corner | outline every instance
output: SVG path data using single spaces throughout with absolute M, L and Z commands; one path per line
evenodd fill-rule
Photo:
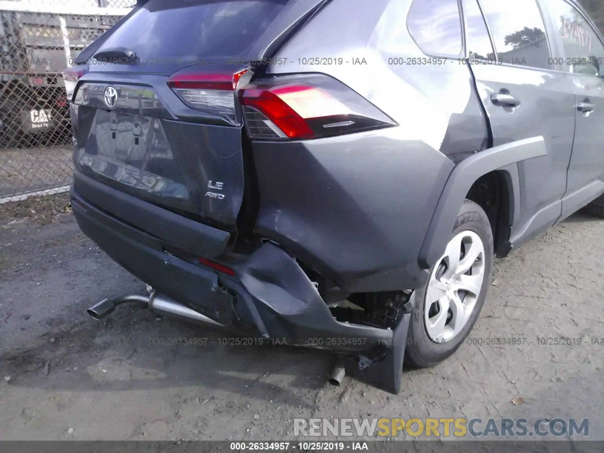
M 250 138 L 306 140 L 396 126 L 367 99 L 324 74 L 260 80 L 240 88 Z

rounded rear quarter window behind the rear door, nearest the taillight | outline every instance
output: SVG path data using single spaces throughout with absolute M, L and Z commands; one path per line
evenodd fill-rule
M 461 57 L 461 16 L 457 0 L 414 0 L 407 28 L 426 55 Z

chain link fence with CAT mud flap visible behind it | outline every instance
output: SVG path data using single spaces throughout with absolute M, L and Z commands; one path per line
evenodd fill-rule
M 136 0 L 0 0 L 0 204 L 61 193 L 72 134 L 61 73 Z

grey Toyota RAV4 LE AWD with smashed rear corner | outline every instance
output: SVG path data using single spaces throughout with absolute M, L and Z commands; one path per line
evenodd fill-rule
M 567 0 L 139 0 L 65 71 L 103 300 L 329 349 L 397 393 L 495 256 L 604 193 L 604 44 Z

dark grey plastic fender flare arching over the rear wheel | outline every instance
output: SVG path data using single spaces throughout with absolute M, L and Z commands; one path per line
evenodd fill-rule
M 516 164 L 547 154 L 543 137 L 513 141 L 464 159 L 449 175 L 420 249 L 422 269 L 431 268 L 446 248 L 457 213 L 472 184 L 483 175 L 500 170 L 510 191 L 510 222 L 518 216 L 520 188 Z

